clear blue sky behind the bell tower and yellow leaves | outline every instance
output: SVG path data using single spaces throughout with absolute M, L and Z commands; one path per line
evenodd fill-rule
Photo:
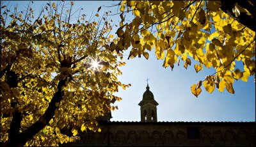
M 68 2 L 68 1 L 67 1 Z M 75 10 L 83 8 L 83 13 L 91 15 L 97 13 L 99 6 L 110 6 L 119 1 L 75 1 Z M 10 1 L 23 6 L 27 1 Z M 40 8 L 46 1 L 35 1 L 33 8 Z M 20 7 L 24 8 L 24 7 Z M 116 13 L 117 8 L 106 8 L 102 6 L 99 14 L 111 10 Z M 113 23 L 119 24 L 119 15 L 111 16 Z M 125 19 L 132 20 L 132 17 Z M 112 34 L 115 34 L 113 28 Z M 129 55 L 129 52 L 125 52 Z M 157 106 L 158 121 L 255 121 L 255 82 L 253 77 L 249 77 L 248 82 L 241 80 L 234 82 L 235 95 L 225 91 L 220 93 L 216 89 L 209 94 L 202 88 L 202 93 L 196 98 L 190 91 L 190 86 L 200 80 L 204 80 L 205 75 L 213 74 L 212 69 L 204 68 L 196 74 L 192 66 L 188 70 L 175 65 L 173 71 L 170 67 L 163 68 L 163 60 L 157 60 L 154 50 L 150 52 L 150 58 L 134 58 L 127 60 L 124 56 L 125 66 L 120 69 L 123 72 L 118 79 L 124 84 L 131 84 L 130 88 L 116 93 L 122 97 L 120 102 L 116 102 L 118 110 L 112 111 L 111 121 L 140 121 L 140 106 L 142 95 L 148 84 L 150 91 L 154 94 Z M 191 58 L 192 59 L 192 58 Z M 240 63 L 241 65 L 241 63 Z

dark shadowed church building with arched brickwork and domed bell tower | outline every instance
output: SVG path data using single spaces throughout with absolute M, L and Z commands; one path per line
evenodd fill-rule
M 102 132 L 84 132 L 68 146 L 255 146 L 253 122 L 157 122 L 157 105 L 147 85 L 140 122 L 101 118 Z M 63 144 L 64 145 L 64 144 Z

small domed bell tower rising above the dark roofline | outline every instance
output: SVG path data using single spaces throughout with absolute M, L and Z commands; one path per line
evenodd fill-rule
M 148 84 L 145 93 L 143 93 L 143 98 L 138 105 L 140 105 L 141 122 L 157 121 L 156 106 L 158 105 L 158 103 L 156 102 L 156 100 L 154 100 L 154 95 L 149 90 Z

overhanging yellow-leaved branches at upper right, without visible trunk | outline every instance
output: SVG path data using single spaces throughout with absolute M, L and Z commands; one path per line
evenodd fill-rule
M 241 3 L 256 9 L 248 1 Z M 237 17 L 243 13 L 243 17 L 255 22 L 255 13 L 236 3 L 228 15 L 221 10 L 223 4 L 224 1 L 122 1 L 120 11 L 125 15 L 131 9 L 134 19 L 126 24 L 122 20 L 124 25 L 117 33 L 122 32 L 120 40 L 125 40 L 127 46 L 118 51 L 132 44 L 129 58 L 134 58 L 154 48 L 157 59 L 164 60 L 164 68 L 172 69 L 180 59 L 188 68 L 191 56 L 196 72 L 203 66 L 216 69 L 204 79 L 206 91 L 212 93 L 216 86 L 221 92 L 226 88 L 234 93 L 234 79 L 246 82 L 255 75 L 255 31 L 237 21 Z M 236 66 L 239 61 L 243 61 L 243 68 Z M 195 84 L 191 92 L 197 97 L 201 90 L 194 87 Z

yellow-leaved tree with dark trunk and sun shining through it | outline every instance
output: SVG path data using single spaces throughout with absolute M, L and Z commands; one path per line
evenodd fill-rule
M 1 1 L 1 143 L 58 146 L 79 139 L 79 130 L 100 132 L 96 118 L 120 100 L 118 86 L 129 86 L 116 78 L 125 63 L 109 52 L 107 18 L 71 22 L 63 15 L 74 3 L 61 13 L 63 3 L 47 3 L 34 20 L 32 9 L 10 15 Z

